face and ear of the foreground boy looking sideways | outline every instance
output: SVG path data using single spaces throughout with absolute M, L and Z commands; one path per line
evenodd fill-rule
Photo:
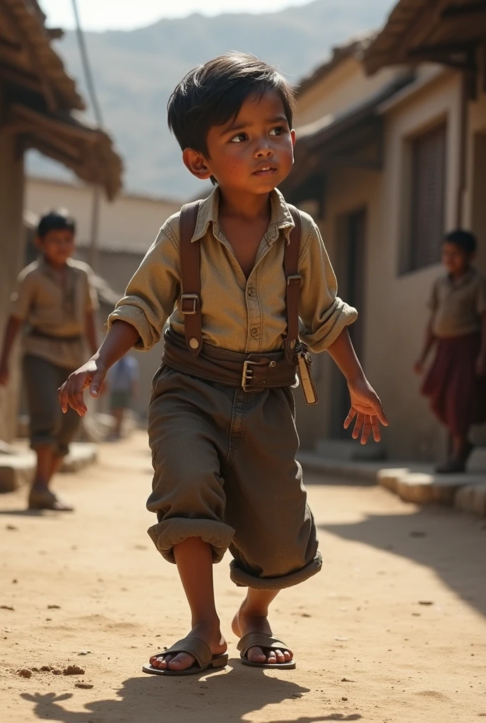
M 223 190 L 269 193 L 294 163 L 295 133 L 278 93 L 250 95 L 236 118 L 210 128 L 207 143 L 208 158 L 187 150 L 184 162 L 199 178 L 214 176 Z M 200 168 L 190 162 L 196 161 L 192 154 L 199 155 Z

